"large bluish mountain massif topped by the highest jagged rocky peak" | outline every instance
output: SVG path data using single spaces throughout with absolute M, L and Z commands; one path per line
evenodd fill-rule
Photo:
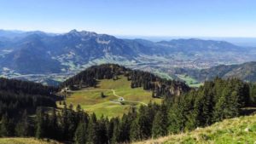
M 106 34 L 76 30 L 56 36 L 33 33 L 20 39 L 19 43 L 18 46 L 15 43 L 6 46 L 3 44 L 2 49 L 14 50 L 0 60 L 0 65 L 23 74 L 61 72 L 62 68 L 69 68 L 65 62 L 83 65 L 89 60 L 108 55 L 135 60 L 138 54 L 146 51 L 140 43 L 128 43 Z M 20 65 L 21 62 L 26 65 L 26 69 Z

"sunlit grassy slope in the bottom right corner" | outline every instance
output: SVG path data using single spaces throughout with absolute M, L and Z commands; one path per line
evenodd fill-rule
M 168 135 L 156 140 L 137 142 L 137 144 L 254 144 L 256 143 L 256 114 L 240 118 L 226 119 L 212 124 L 207 128 L 200 128 L 178 135 Z

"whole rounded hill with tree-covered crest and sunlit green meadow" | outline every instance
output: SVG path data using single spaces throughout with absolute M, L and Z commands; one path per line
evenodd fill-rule
M 98 118 L 102 114 L 108 117 L 122 116 L 132 107 L 146 106 L 150 101 L 160 103 L 163 95 L 172 97 L 189 90 L 181 82 L 115 64 L 91 66 L 67 79 L 61 86 L 62 89 L 69 89 L 67 105 L 80 105 L 86 112 L 95 112 Z M 66 95 L 63 90 L 61 95 Z

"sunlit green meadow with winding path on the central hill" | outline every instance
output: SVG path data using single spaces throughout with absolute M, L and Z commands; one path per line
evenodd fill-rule
M 125 102 L 121 105 L 118 102 L 118 97 L 113 95 L 113 91 L 84 91 L 84 90 L 99 90 L 99 89 L 113 89 L 116 95 L 125 99 L 125 101 L 138 101 L 148 104 L 149 101 L 160 103 L 160 99 L 152 98 L 151 91 L 143 88 L 131 89 L 131 81 L 128 81 L 124 76 L 119 76 L 118 80 L 104 79 L 99 81 L 97 88 L 80 89 L 73 92 L 67 97 L 66 103 L 73 104 L 76 107 L 78 104 L 86 112 L 95 112 L 96 117 L 100 118 L 102 115 L 108 117 L 121 117 L 125 112 L 129 112 L 131 107 L 139 107 L 141 103 Z M 102 98 L 101 93 L 106 95 Z M 57 103 L 58 104 L 58 103 Z M 58 105 L 58 107 L 63 107 Z

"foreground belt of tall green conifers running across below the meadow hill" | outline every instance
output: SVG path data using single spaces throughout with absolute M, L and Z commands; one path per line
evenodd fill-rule
M 199 89 L 191 89 L 172 99 L 164 97 L 161 105 L 149 103 L 138 110 L 131 108 L 122 118 L 96 118 L 95 114 L 89 115 L 79 106 L 73 111 L 73 106 L 66 106 L 65 102 L 58 112 L 55 108 L 44 112 L 38 107 L 35 118 L 28 117 L 24 111 L 17 124 L 12 123 L 5 113 L 0 135 L 35 136 L 78 144 L 141 141 L 194 130 L 245 114 L 244 107 L 255 105 L 256 85 L 234 78 L 215 78 Z

